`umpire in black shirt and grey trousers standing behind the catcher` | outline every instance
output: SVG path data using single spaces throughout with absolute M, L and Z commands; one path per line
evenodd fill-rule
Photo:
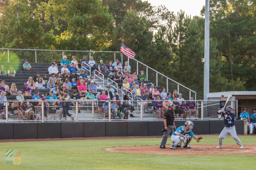
M 174 124 L 174 104 L 169 104 L 168 105 L 168 110 L 164 113 L 164 136 L 161 140 L 160 148 L 165 149 L 165 144 L 167 141 L 168 136 L 170 133 L 172 134 L 174 132 L 174 129 L 176 129 L 176 126 Z

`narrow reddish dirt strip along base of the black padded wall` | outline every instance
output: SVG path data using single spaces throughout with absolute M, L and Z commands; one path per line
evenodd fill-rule
M 220 134 L 196 135 L 202 137 L 220 136 Z M 231 136 L 231 135 L 228 135 Z M 237 135 L 249 136 L 249 135 Z M 256 135 L 251 135 L 256 136 Z M 93 138 L 47 138 L 47 139 L 3 139 L 2 142 L 36 142 L 36 141 L 58 141 L 58 140 L 91 140 L 91 139 L 133 139 L 133 138 L 162 138 L 163 136 L 125 136 L 125 137 L 93 137 Z M 168 136 L 170 138 L 170 136 Z

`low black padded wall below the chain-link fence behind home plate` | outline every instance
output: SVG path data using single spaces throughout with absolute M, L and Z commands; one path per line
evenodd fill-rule
M 174 121 L 176 128 L 186 121 Z M 224 120 L 193 120 L 194 134 L 220 134 Z M 235 120 L 236 133 L 244 134 L 244 121 Z M 61 123 L 3 123 L 0 139 L 162 136 L 164 121 L 111 121 Z

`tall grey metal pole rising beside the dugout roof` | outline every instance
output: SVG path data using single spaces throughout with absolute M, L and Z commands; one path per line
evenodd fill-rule
M 209 64 L 210 64 L 210 0 L 205 0 L 205 26 L 204 26 L 204 100 L 207 100 L 209 90 Z

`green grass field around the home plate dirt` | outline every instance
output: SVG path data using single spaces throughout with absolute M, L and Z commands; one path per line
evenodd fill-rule
M 255 145 L 256 136 L 239 137 L 243 145 Z M 161 138 L 67 140 L 43 142 L 0 143 L 0 169 L 255 169 L 256 156 L 199 155 L 176 156 L 109 152 L 118 146 L 159 145 Z M 202 142 L 190 144 L 218 144 L 218 137 L 204 137 Z M 227 137 L 225 144 L 236 144 Z M 167 145 L 171 145 L 168 138 Z M 21 164 L 6 165 L 5 150 L 20 149 Z M 252 163 L 255 162 L 255 163 Z

